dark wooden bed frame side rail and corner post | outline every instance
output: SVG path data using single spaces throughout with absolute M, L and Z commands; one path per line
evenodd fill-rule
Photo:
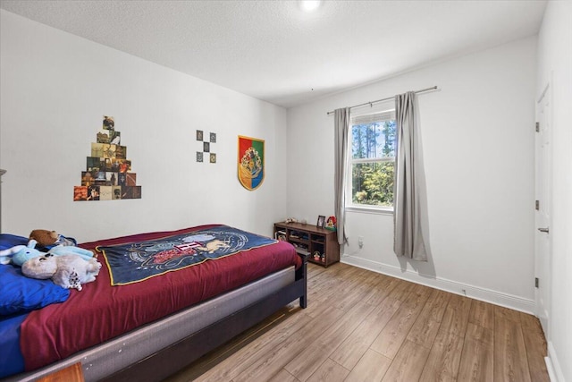
M 236 335 L 257 325 L 291 301 L 299 298 L 301 308 L 307 307 L 307 255 L 299 254 L 302 266 L 296 270 L 295 281 L 248 307 L 171 344 L 147 358 L 122 369 L 104 381 L 161 380 L 184 369 Z

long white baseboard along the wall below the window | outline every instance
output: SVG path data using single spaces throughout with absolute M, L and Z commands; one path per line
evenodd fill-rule
M 505 308 L 524 311 L 534 315 L 534 300 L 525 299 L 509 293 L 501 293 L 490 289 L 447 280 L 442 277 L 419 274 L 413 270 L 401 271 L 400 267 L 394 267 L 376 261 L 361 259 L 351 255 L 343 255 L 341 262 L 355 267 L 362 267 L 383 275 L 398 277 L 412 283 L 424 284 L 442 291 L 465 295 L 475 300 L 491 302 Z

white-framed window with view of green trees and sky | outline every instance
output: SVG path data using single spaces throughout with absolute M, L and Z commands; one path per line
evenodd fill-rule
M 395 111 L 351 119 L 347 208 L 393 209 Z

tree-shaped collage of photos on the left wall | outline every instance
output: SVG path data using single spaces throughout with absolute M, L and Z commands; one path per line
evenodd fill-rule
M 115 131 L 113 116 L 104 115 L 97 141 L 91 143 L 81 185 L 73 187 L 73 200 L 141 199 L 137 174 L 131 173 L 127 147 L 121 145 L 121 132 Z

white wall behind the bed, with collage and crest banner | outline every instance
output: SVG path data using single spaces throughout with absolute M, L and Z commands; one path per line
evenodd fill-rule
M 1 11 L 2 229 L 78 241 L 223 223 L 272 233 L 286 216 L 286 110 Z M 122 132 L 142 199 L 74 202 L 102 115 Z M 196 130 L 217 164 L 197 163 Z M 237 136 L 265 140 L 265 182 L 237 179 Z

